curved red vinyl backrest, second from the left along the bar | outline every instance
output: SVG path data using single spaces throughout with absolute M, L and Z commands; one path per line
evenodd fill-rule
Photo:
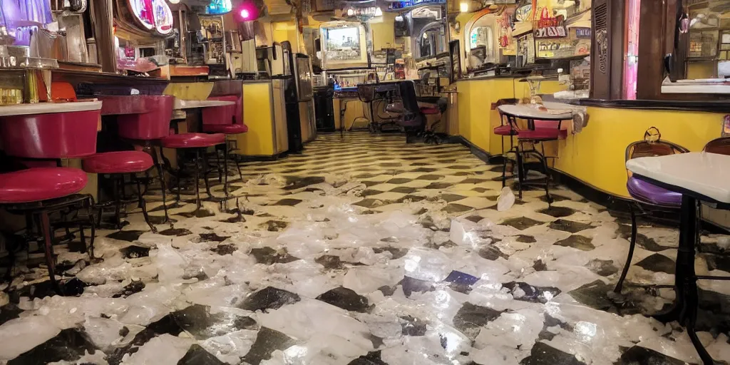
M 129 96 L 125 96 L 129 98 Z M 142 112 L 117 117 L 119 135 L 128 139 L 152 140 L 167 137 L 170 133 L 170 119 L 174 96 L 138 96 L 134 98 L 142 103 Z M 129 101 L 127 101 L 129 102 Z M 107 101 L 104 101 L 106 104 Z

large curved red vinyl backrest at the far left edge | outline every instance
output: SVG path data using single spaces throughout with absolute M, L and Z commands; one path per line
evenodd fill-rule
M 23 158 L 80 158 L 96 153 L 100 110 L 0 118 L 5 153 Z

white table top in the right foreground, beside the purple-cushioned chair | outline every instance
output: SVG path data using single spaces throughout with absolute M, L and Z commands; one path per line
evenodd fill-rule
M 639 157 L 626 161 L 626 169 L 721 203 L 730 203 L 730 155 L 692 152 Z

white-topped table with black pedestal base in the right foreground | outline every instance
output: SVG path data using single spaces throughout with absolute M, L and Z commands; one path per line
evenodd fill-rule
M 677 320 L 685 326 L 705 365 L 715 362 L 694 330 L 699 305 L 697 280 L 730 280 L 730 277 L 697 276 L 694 272 L 697 203 L 701 201 L 718 209 L 730 210 L 729 166 L 730 155 L 715 153 L 680 153 L 626 161 L 626 169 L 633 172 L 634 177 L 682 193 L 680 245 L 675 264 L 676 299 L 671 310 L 656 315 L 656 318 L 662 322 Z

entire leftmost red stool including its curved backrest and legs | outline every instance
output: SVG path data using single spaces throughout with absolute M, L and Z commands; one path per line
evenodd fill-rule
M 0 118 L 0 140 L 7 155 L 28 159 L 31 166 L 41 166 L 0 176 L 0 204 L 10 212 L 26 215 L 27 232 L 39 227 L 38 242 L 44 242 L 51 283 L 55 283 L 53 243 L 55 230 L 78 226 L 84 250 L 93 258 L 95 223 L 94 201 L 88 194 L 77 194 L 85 187 L 88 177 L 80 169 L 59 167 L 61 160 L 83 158 L 96 153 L 96 129 L 100 118 L 100 102 L 64 103 L 56 112 L 46 114 L 11 115 Z M 65 110 L 65 111 L 64 111 Z M 50 167 L 48 167 L 50 165 Z M 55 165 L 55 166 L 53 166 Z M 78 212 L 88 211 L 82 217 Z M 71 211 L 77 215 L 70 215 Z M 61 213 L 61 218 L 50 217 Z M 85 228 L 91 228 L 90 242 L 86 243 Z M 32 233 L 26 234 L 30 241 Z

